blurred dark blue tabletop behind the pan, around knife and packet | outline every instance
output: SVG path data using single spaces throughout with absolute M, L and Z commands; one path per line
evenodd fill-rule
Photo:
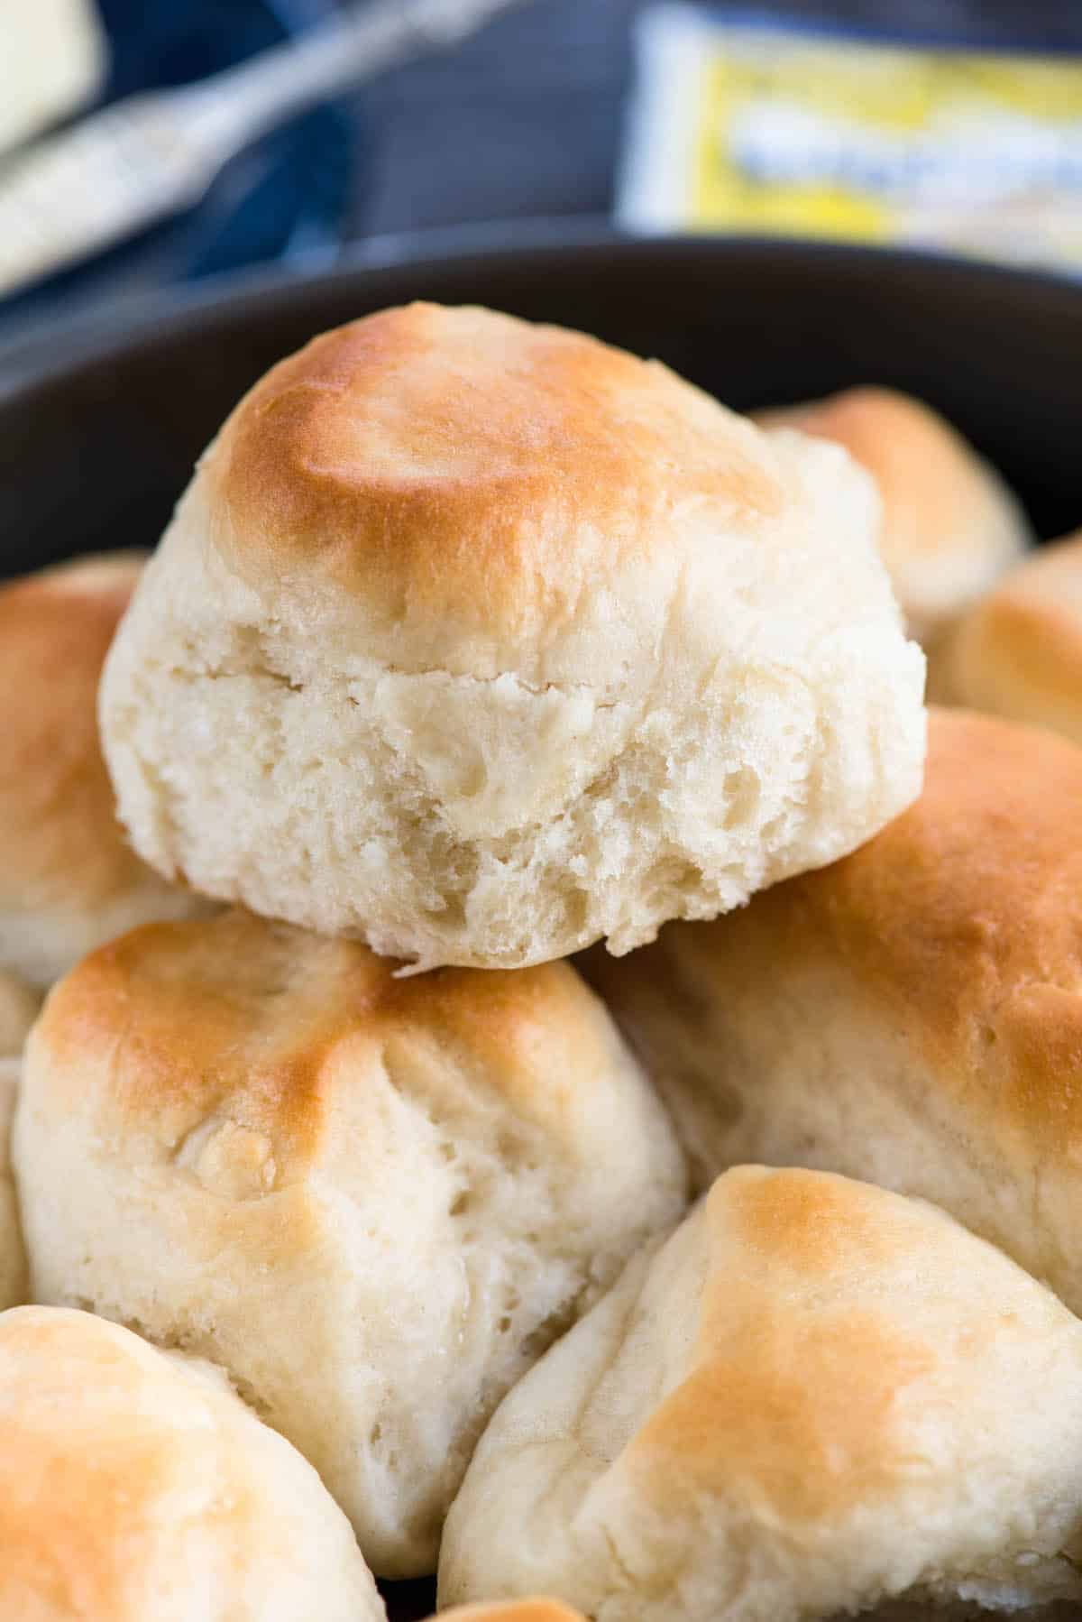
M 295 34 L 337 0 L 99 0 L 105 99 L 183 84 Z M 646 0 L 524 0 L 456 52 L 383 75 L 237 157 L 187 217 L 0 302 L 0 334 L 54 310 L 432 225 L 605 214 Z M 715 11 L 746 13 L 748 0 Z M 801 21 L 1082 52 L 1082 0 L 777 0 Z

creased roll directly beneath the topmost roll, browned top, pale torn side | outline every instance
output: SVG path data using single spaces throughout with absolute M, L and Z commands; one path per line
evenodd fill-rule
M 566 963 L 397 980 L 240 912 L 52 991 L 16 1171 L 34 1299 L 221 1362 L 386 1577 L 435 1568 L 487 1416 L 685 1200 Z

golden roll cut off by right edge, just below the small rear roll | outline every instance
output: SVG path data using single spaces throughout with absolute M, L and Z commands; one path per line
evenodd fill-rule
M 1082 743 L 1082 530 L 1043 547 L 962 616 L 936 686 L 944 704 Z

